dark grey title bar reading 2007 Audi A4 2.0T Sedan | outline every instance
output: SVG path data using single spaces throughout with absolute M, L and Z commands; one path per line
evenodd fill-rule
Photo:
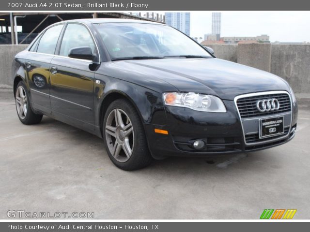
M 7 0 L 0 11 L 310 10 L 306 0 Z

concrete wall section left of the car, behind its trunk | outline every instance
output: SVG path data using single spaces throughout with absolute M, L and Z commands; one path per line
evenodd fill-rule
M 12 62 L 28 45 L 0 45 L 0 88 L 12 88 Z

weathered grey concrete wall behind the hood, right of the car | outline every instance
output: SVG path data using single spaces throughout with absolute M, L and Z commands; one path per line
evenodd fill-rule
M 203 45 L 212 47 L 217 58 L 245 64 L 282 77 L 295 93 L 310 92 L 310 44 Z

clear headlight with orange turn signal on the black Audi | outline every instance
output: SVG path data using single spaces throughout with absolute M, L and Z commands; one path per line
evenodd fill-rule
M 204 112 L 226 113 L 226 107 L 222 100 L 213 95 L 200 93 L 163 93 L 163 99 L 166 105 L 186 107 L 192 110 Z

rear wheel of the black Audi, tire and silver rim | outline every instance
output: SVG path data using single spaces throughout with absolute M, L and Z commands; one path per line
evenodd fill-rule
M 41 122 L 43 115 L 35 114 L 30 105 L 29 93 L 24 82 L 20 81 L 15 92 L 16 112 L 19 120 L 25 125 Z

